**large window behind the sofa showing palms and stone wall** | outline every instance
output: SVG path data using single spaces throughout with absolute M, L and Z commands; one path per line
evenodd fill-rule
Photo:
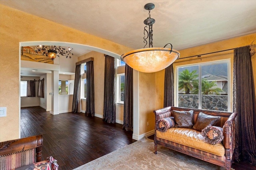
M 230 111 L 230 61 L 177 68 L 179 107 Z

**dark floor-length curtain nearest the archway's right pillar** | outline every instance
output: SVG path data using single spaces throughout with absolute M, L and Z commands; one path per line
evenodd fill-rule
M 133 131 L 133 69 L 125 64 L 123 129 Z

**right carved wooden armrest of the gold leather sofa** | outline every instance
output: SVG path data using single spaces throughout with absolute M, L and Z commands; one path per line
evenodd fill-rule
M 234 123 L 237 113 L 232 113 L 228 120 L 223 126 L 223 147 L 225 149 L 225 156 L 227 160 L 232 159 L 232 155 L 235 147 L 235 132 L 234 132 Z M 231 156 L 231 157 L 230 157 Z

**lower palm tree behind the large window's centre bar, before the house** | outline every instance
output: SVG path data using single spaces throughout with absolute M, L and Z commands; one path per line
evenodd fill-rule
M 193 94 L 198 94 L 198 82 L 193 84 L 194 90 Z M 217 86 L 216 81 L 208 82 L 206 79 L 202 79 L 202 94 L 217 94 L 220 95 L 220 92 L 223 92 L 221 88 L 215 87 Z

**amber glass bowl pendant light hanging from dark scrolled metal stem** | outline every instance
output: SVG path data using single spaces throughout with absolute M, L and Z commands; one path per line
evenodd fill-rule
M 149 3 L 144 6 L 145 10 L 148 10 L 149 17 L 144 20 L 144 43 L 148 44 L 148 48 L 137 49 L 130 51 L 121 56 L 121 60 L 128 64 L 135 70 L 140 72 L 158 72 L 163 70 L 172 64 L 178 57 L 180 53 L 172 49 L 172 44 L 168 43 L 164 48 L 153 48 L 153 29 L 152 26 L 155 20 L 150 16 L 150 10 L 153 10 L 154 4 Z M 146 30 L 148 28 L 148 31 Z M 148 41 L 147 41 L 148 39 Z M 170 45 L 170 48 L 166 48 Z

